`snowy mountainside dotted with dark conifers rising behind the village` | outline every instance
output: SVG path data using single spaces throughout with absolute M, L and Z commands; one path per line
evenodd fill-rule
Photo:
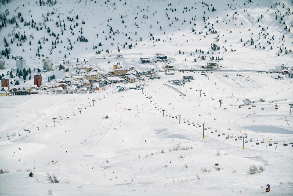
M 6 54 L 7 68 L 15 67 L 12 55 L 25 58 L 27 66 L 32 67 L 42 66 L 42 55 L 60 64 L 63 60 L 88 60 L 111 53 L 128 57 L 164 53 L 174 58 L 173 63 L 190 67 L 200 66 L 213 56 L 223 58 L 224 66 L 236 64 L 244 69 L 254 69 L 253 64 L 273 68 L 292 59 L 290 1 L 48 2 L 41 2 L 40 6 L 39 1 L 15 0 L 1 5 L 4 11 L 1 20 L 5 14 L 7 21 L 0 35 L 7 44 L 0 43 L 0 48 L 4 51 L 2 56 L 6 48 L 10 50 Z M 17 25 L 8 22 L 13 16 Z M 21 40 L 21 35 L 25 35 L 26 40 L 16 38 Z M 81 41 L 77 41 L 79 37 Z M 212 49 L 213 44 L 216 47 Z M 101 54 L 96 55 L 99 51 Z M 108 60 L 94 64 L 109 66 Z

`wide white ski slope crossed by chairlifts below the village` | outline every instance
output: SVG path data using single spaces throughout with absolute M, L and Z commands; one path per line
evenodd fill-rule
M 114 86 L 107 87 L 108 98 L 104 92 L 1 98 L 0 168 L 10 173 L 0 175 L 0 194 L 261 195 L 269 183 L 272 192 L 267 194 L 291 195 L 292 146 L 283 143 L 293 139 L 288 106 L 292 83 L 271 74 L 236 74 L 159 73 L 161 79 L 140 83 L 143 91 L 115 93 Z M 183 76 L 194 80 L 184 87 L 168 82 Z M 196 89 L 202 89 L 201 97 Z M 245 98 L 266 102 L 257 103 L 253 114 L 251 105 L 238 107 Z M 197 125 L 203 121 L 204 139 Z M 31 131 L 28 137 L 25 128 Z M 230 136 L 245 133 L 248 143 L 242 150 L 243 140 Z M 248 174 L 253 164 L 264 171 Z M 34 177 L 28 177 L 26 169 Z M 60 183 L 46 181 L 47 173 Z

